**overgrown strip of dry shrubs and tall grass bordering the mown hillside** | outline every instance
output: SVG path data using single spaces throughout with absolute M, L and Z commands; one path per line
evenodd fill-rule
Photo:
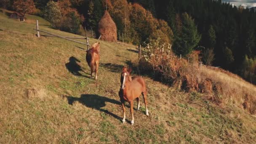
M 171 45 L 160 44 L 160 39 L 146 45 L 140 68 L 157 80 L 187 92 L 205 93 L 204 99 L 218 105 L 235 105 L 256 114 L 256 87 L 223 69 L 198 65 L 199 52 L 188 59 L 179 59 Z

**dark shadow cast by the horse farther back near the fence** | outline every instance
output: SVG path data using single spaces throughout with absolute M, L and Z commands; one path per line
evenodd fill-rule
M 87 77 L 87 78 L 91 78 L 91 77 L 88 77 L 88 76 L 85 76 L 85 75 L 82 75 L 80 73 L 80 71 L 86 73 L 85 71 L 83 71 L 83 68 L 77 64 L 77 62 L 81 62 L 80 60 L 78 60 L 77 58 L 75 58 L 74 56 L 71 56 L 69 58 L 69 62 L 65 64 L 67 70 L 69 72 L 71 72 L 73 75 L 76 75 L 76 76 L 83 76 L 83 77 Z M 88 73 L 86 73 L 88 74 Z M 89 74 L 88 74 L 89 75 Z

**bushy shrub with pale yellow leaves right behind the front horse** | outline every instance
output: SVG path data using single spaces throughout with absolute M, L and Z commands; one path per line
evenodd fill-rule
M 143 72 L 152 74 L 155 79 L 165 83 L 173 84 L 180 77 L 188 63 L 184 59 L 179 59 L 171 50 L 171 44 L 161 44 L 160 38 L 149 40 L 145 45 L 143 58 L 139 64 L 144 69 Z M 147 66 L 145 68 L 145 66 Z

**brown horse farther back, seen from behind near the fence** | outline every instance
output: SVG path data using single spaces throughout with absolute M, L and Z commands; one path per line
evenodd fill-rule
M 94 71 L 95 80 L 97 80 L 97 73 L 99 69 L 99 48 L 99 43 L 94 43 L 86 53 L 86 61 L 89 67 L 91 67 L 91 77 L 93 76 Z

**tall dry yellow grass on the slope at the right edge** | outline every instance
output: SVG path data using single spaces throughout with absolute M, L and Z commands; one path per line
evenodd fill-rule
M 256 86 L 246 82 L 237 75 L 224 72 L 224 70 L 212 69 L 211 67 L 200 67 L 200 75 L 210 79 L 213 86 L 213 100 L 223 106 L 234 104 L 237 107 L 248 109 L 252 114 L 256 113 Z M 201 82 L 199 82 L 201 83 Z

